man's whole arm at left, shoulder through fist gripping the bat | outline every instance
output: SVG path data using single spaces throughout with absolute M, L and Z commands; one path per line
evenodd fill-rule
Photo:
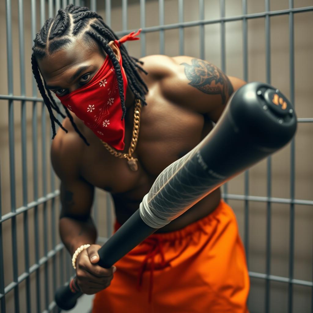
M 76 258 L 75 282 L 83 293 L 91 295 L 110 285 L 114 267 L 104 269 L 97 265 L 100 245 L 95 244 L 97 231 L 90 217 L 94 186 L 80 177 L 80 138 L 77 141 L 73 136 L 76 134 L 58 132 L 51 147 L 54 171 L 61 179 L 59 231 L 71 255 L 81 245 L 90 244 Z

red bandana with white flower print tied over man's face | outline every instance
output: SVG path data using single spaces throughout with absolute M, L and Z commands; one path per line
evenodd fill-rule
M 135 38 L 135 36 L 139 35 L 140 32 L 141 29 L 136 34 L 132 32 L 120 40 L 115 40 L 115 43 L 120 46 L 127 40 L 138 40 L 139 38 Z M 120 57 L 119 63 L 123 77 L 124 99 L 126 99 L 127 77 L 122 67 L 122 57 Z M 118 82 L 115 69 L 108 55 L 87 85 L 68 95 L 56 96 L 97 137 L 117 150 L 124 149 L 125 121 L 124 119 L 121 120 L 123 111 Z

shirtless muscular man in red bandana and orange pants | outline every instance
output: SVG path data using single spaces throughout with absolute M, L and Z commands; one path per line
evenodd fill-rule
M 131 58 L 123 42 L 136 35 L 117 40 L 95 12 L 69 5 L 34 40 L 33 73 L 54 132 L 59 109 L 50 90 L 67 114 L 51 147 L 61 179 L 61 239 L 71 255 L 90 244 L 74 259 L 76 284 L 97 293 L 93 312 L 247 312 L 244 248 L 219 189 L 115 266 L 96 264 L 94 188 L 112 194 L 117 230 L 160 172 L 212 130 L 245 84 L 188 56 Z

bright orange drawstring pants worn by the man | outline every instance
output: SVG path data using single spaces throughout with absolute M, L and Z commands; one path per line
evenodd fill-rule
M 93 313 L 249 312 L 244 247 L 223 201 L 185 228 L 152 234 L 115 266 L 111 285 L 95 295 Z

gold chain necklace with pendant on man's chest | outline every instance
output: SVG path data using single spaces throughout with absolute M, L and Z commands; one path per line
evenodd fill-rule
M 127 159 L 127 164 L 132 171 L 138 170 L 138 159 L 135 159 L 132 154 L 134 153 L 139 136 L 139 126 L 140 126 L 140 114 L 141 114 L 141 101 L 140 99 L 135 100 L 135 111 L 134 111 L 134 127 L 133 127 L 133 135 L 131 137 L 131 145 L 128 148 L 128 153 L 117 152 L 114 148 L 109 146 L 106 142 L 102 141 L 105 148 L 113 155 L 120 159 Z

